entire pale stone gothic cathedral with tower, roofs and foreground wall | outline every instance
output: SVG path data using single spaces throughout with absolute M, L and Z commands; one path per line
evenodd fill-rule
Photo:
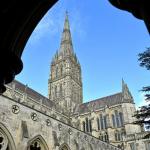
M 14 80 L 0 95 L 0 150 L 150 150 L 149 132 L 133 124 L 135 103 L 118 93 L 83 103 L 82 76 L 68 14 L 51 61 L 48 97 Z

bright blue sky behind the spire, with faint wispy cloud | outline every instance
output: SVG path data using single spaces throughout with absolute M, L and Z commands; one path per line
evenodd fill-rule
M 145 104 L 139 90 L 150 84 L 150 72 L 139 66 L 138 54 L 150 46 L 148 31 L 143 21 L 108 0 L 59 0 L 30 36 L 16 79 L 48 95 L 50 63 L 60 46 L 66 10 L 82 69 L 84 102 L 121 92 L 123 78 L 136 106 Z

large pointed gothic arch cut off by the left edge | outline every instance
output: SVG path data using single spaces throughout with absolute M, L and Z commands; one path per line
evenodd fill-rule
M 11 133 L 2 123 L 0 123 L 0 147 L 6 150 L 16 150 Z

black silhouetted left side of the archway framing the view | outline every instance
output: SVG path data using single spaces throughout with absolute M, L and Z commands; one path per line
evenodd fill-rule
M 0 93 L 23 68 L 21 55 L 32 31 L 58 0 L 2 0 L 0 4 Z

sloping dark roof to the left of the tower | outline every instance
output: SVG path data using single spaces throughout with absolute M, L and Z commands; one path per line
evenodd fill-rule
M 21 93 L 26 93 L 27 96 L 31 97 L 32 99 L 41 102 L 42 104 L 48 106 L 48 107 L 53 107 L 55 104 L 53 101 L 51 101 L 50 99 L 48 99 L 47 97 L 39 94 L 38 92 L 36 92 L 35 90 L 31 89 L 30 87 L 28 87 L 27 85 L 24 85 L 23 83 L 14 80 L 13 82 L 11 82 L 10 84 L 8 84 L 8 86 L 13 87 L 13 85 L 15 85 L 15 90 L 21 92 Z

